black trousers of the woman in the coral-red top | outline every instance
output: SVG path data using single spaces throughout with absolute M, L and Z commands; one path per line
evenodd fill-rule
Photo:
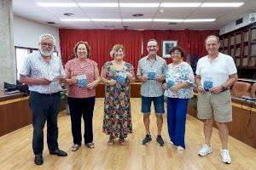
M 71 117 L 73 144 L 82 143 L 81 116 L 84 119 L 84 144 L 93 141 L 92 116 L 95 105 L 95 97 L 90 98 L 68 98 Z

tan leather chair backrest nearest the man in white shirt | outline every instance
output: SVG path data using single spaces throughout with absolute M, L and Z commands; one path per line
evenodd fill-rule
M 252 97 L 251 88 L 252 84 L 249 82 L 235 82 L 232 87 L 233 96 L 238 98 L 243 95 Z

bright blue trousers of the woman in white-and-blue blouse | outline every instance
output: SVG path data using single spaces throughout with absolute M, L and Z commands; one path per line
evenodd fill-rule
M 184 136 L 189 99 L 167 98 L 167 126 L 173 144 L 185 148 Z

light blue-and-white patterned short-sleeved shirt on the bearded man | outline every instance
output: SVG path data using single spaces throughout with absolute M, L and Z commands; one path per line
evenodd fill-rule
M 22 65 L 19 71 L 21 76 L 32 78 L 47 78 L 53 80 L 58 76 L 65 76 L 61 59 L 58 56 L 51 55 L 49 63 L 47 63 L 40 51 L 27 54 L 22 60 Z M 29 85 L 29 90 L 40 94 L 53 94 L 61 91 L 59 82 L 51 82 L 49 85 Z

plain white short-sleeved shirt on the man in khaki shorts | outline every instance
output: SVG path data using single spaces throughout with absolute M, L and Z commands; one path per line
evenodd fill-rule
M 198 60 L 196 71 L 201 76 L 201 85 L 205 81 L 213 82 L 212 87 L 218 87 L 227 82 L 229 76 L 237 72 L 234 60 L 230 55 L 219 53 L 214 60 L 208 55 Z

